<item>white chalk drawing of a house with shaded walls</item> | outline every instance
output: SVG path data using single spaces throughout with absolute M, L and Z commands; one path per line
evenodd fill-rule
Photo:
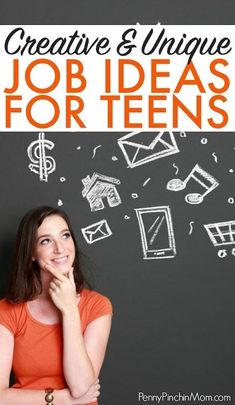
M 91 177 L 86 176 L 82 179 L 82 183 L 84 185 L 82 196 L 89 202 L 92 212 L 105 208 L 103 203 L 104 198 L 107 198 L 110 207 L 116 207 L 121 204 L 122 201 L 115 186 L 115 184 L 121 183 L 120 180 L 103 174 L 93 173 Z

